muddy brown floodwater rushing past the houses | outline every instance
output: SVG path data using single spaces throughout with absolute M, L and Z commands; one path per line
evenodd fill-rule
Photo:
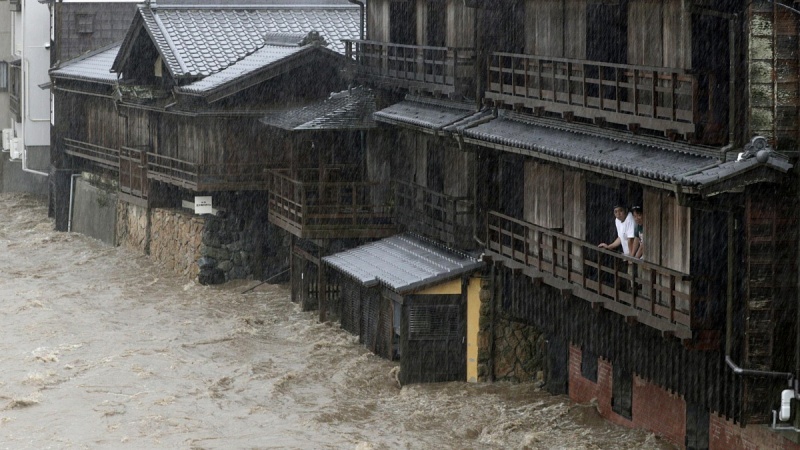
M 533 384 L 400 389 L 255 284 L 198 285 L 0 194 L 0 448 L 672 448 Z

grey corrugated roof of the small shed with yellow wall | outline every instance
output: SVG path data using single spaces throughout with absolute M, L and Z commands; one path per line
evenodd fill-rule
M 383 284 L 399 294 L 475 271 L 481 261 L 401 234 L 322 258 L 365 286 Z

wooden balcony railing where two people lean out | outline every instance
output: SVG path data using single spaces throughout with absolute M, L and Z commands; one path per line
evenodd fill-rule
M 691 339 L 700 326 L 688 274 L 599 249 L 558 231 L 497 212 L 487 223 L 486 253 L 534 280 L 627 318 Z

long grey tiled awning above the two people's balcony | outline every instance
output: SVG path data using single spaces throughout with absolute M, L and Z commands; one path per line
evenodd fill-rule
M 503 111 L 496 119 L 463 128 L 461 133 L 465 141 L 478 145 L 500 144 L 663 182 L 682 180 L 684 174 L 718 163 L 706 156 L 537 126 Z

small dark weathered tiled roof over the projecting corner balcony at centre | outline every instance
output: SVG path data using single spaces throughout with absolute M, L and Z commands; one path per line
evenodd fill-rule
M 372 92 L 356 88 L 312 105 L 268 113 L 261 122 L 284 130 L 363 130 L 375 127 L 374 112 Z

